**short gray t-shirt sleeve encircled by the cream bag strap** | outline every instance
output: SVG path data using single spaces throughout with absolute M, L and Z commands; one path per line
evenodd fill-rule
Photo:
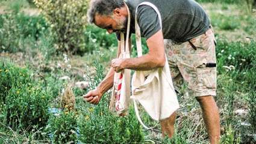
M 137 20 L 142 36 L 146 40 L 161 29 L 157 12 L 149 5 L 140 5 L 138 7 Z

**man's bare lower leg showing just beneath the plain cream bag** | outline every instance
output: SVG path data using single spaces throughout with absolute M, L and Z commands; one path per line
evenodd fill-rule
M 174 134 L 175 119 L 176 119 L 176 113 L 173 112 L 169 118 L 163 119 L 160 121 L 163 137 L 165 137 L 165 134 L 167 134 L 169 138 L 172 138 Z

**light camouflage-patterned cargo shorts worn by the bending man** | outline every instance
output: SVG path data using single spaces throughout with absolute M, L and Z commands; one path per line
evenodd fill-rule
M 216 95 L 216 53 L 212 29 L 190 42 L 164 40 L 173 85 L 180 90 L 187 82 L 189 95 Z

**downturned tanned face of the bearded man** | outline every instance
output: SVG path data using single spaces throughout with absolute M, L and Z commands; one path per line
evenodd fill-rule
M 99 28 L 106 29 L 109 34 L 112 32 L 125 32 L 127 19 L 125 16 L 102 16 L 96 14 L 95 16 L 95 25 Z

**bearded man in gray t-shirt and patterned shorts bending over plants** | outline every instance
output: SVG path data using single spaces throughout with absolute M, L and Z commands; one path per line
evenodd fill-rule
M 110 34 L 116 32 L 120 40 L 119 33 L 126 31 L 128 10 L 131 13 L 131 32 L 134 33 L 135 11 L 141 2 L 143 0 L 92 0 L 88 11 L 89 21 Z M 114 71 L 163 67 L 166 52 L 175 88 L 180 87 L 181 80 L 188 83 L 190 97 L 195 97 L 201 105 L 210 143 L 218 143 L 219 112 L 213 98 L 216 95 L 216 56 L 210 20 L 202 7 L 193 0 L 148 2 L 154 4 L 161 14 L 160 22 L 151 6 L 140 5 L 137 8 L 137 20 L 149 52 L 139 58 L 113 59 L 105 79 L 84 98 L 89 103 L 98 104 L 104 92 L 113 86 Z M 120 51 L 120 41 L 118 49 Z M 175 113 L 160 121 L 163 134 L 172 137 L 174 123 Z

